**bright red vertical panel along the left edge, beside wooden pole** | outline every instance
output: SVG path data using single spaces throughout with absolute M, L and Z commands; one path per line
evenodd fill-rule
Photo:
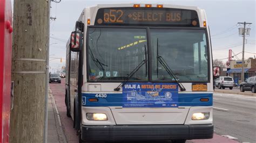
M 11 88 L 13 88 L 11 84 L 11 46 L 11 1 L 0 0 L 0 142 L 9 142 L 11 99 L 13 99 L 11 98 Z

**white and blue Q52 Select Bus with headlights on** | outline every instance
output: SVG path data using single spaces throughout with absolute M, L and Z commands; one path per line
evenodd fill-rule
M 66 44 L 66 115 L 79 141 L 212 138 L 207 24 L 194 6 L 85 8 Z

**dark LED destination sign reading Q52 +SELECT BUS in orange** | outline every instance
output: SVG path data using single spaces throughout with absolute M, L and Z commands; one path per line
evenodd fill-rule
M 95 25 L 172 25 L 199 27 L 197 12 L 163 8 L 99 9 Z

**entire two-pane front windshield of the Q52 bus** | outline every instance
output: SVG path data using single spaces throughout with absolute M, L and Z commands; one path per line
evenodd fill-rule
M 89 28 L 87 38 L 87 77 L 89 81 L 124 81 L 146 59 L 147 36 L 151 60 L 129 81 L 175 82 L 161 57 L 181 82 L 208 81 L 208 51 L 204 29 Z M 149 35 L 147 35 L 149 34 Z M 147 74 L 147 65 L 151 72 Z

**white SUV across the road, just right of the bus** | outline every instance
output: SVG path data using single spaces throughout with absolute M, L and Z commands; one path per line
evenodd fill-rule
M 230 90 L 232 90 L 234 86 L 234 80 L 231 76 L 220 76 L 215 80 L 215 86 L 219 89 L 230 88 Z

